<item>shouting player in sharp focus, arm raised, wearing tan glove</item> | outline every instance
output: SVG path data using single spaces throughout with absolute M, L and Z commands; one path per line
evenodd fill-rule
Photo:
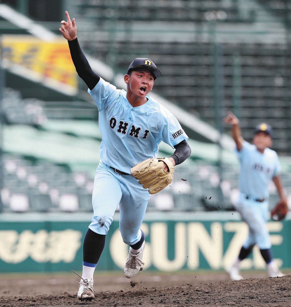
M 61 22 L 59 30 L 68 40 L 76 71 L 98 107 L 102 133 L 101 160 L 92 195 L 94 216 L 83 242 L 83 271 L 78 291 L 80 300 L 92 300 L 93 273 L 116 208 L 119 205 L 123 242 L 130 246 L 124 274 L 132 278 L 144 265 L 145 234 L 140 226 L 149 196 L 169 184 L 173 166 L 185 161 L 191 150 L 177 119 L 148 95 L 154 80 L 161 75 L 153 61 L 133 60 L 124 76 L 126 91 L 117 89 L 92 71 L 78 43 L 75 19 L 71 21 L 67 11 L 65 14 L 67 21 Z M 169 158 L 153 160 L 161 141 L 175 151 Z M 158 178 L 163 177 L 162 184 L 149 172 L 141 176 L 149 167 L 157 171 Z

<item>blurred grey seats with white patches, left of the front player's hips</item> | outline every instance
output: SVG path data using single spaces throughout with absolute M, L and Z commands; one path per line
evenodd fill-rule
M 15 154 L 3 154 L 2 159 L 4 211 L 92 211 L 93 179 L 88 174 Z

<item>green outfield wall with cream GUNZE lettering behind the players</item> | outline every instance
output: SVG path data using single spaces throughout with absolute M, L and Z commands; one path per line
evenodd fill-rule
M 290 214 L 290 213 L 289 213 Z M 118 214 L 106 237 L 98 270 L 123 270 L 128 246 L 118 230 Z M 69 271 L 82 269 L 82 242 L 90 214 L 1 214 L 0 272 Z M 291 267 L 291 217 L 268 222 L 278 266 Z M 150 212 L 145 232 L 145 269 L 223 269 L 238 255 L 247 226 L 236 212 Z M 242 269 L 261 269 L 260 252 L 242 262 Z

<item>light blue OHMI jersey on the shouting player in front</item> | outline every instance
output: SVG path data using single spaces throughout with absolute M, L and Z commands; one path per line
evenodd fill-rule
M 172 148 L 188 136 L 174 115 L 150 96 L 148 101 L 132 107 L 126 91 L 102 78 L 88 92 L 99 111 L 102 134 L 101 160 L 122 172 L 149 157 L 157 157 L 161 141 Z

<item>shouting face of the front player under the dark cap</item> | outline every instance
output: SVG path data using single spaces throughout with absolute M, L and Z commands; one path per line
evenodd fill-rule
M 125 75 L 125 82 L 136 97 L 144 98 L 153 88 L 153 73 L 147 69 L 134 70 L 130 75 Z

